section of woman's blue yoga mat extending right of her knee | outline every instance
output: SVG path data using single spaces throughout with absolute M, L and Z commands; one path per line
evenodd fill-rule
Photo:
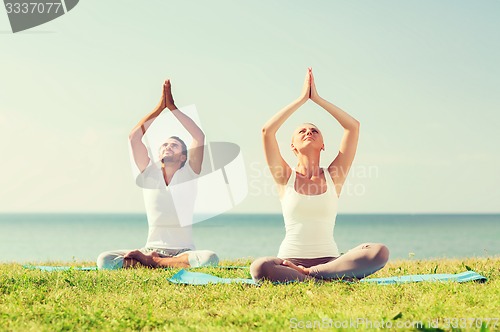
M 400 276 L 400 277 L 368 278 L 368 279 L 361 279 L 360 282 L 370 282 L 370 283 L 377 283 L 380 285 L 390 285 L 390 284 L 405 284 L 409 282 L 421 282 L 421 281 L 485 282 L 486 280 L 488 279 L 486 277 L 483 277 L 479 273 L 476 273 L 474 271 L 467 271 L 458 274 L 414 274 L 414 275 Z

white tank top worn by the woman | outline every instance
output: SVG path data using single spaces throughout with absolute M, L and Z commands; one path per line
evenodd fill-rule
M 279 258 L 338 257 L 333 238 L 338 196 L 332 177 L 323 168 L 327 189 L 320 195 L 303 195 L 295 190 L 295 169 L 281 198 L 286 235 Z

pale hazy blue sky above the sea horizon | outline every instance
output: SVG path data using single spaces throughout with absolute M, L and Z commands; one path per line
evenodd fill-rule
M 498 1 L 80 1 L 12 34 L 0 10 L 0 212 L 142 212 L 127 136 L 171 78 L 210 141 L 241 147 L 247 198 L 280 212 L 260 128 L 312 66 L 361 122 L 340 212 L 500 212 Z M 312 102 L 301 122 L 341 127 Z

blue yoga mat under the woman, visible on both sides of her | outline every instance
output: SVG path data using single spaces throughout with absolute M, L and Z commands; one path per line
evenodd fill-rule
M 180 270 L 172 278 L 168 280 L 176 284 L 185 284 L 185 285 L 208 285 L 208 284 L 229 284 L 229 283 L 245 283 L 245 284 L 257 285 L 257 283 L 252 279 L 219 278 L 211 274 L 200 273 L 200 272 L 189 272 L 186 270 Z M 421 282 L 421 281 L 466 282 L 475 280 L 484 282 L 487 279 L 474 271 L 467 271 L 459 274 L 415 274 L 415 275 L 400 276 L 400 277 L 371 278 L 371 279 L 362 279 L 361 282 L 389 285 L 389 284 L 404 284 L 409 282 Z

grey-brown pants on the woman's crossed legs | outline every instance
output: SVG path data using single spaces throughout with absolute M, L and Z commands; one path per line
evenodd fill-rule
M 339 257 L 287 258 L 295 265 L 309 268 L 309 274 L 301 273 L 284 266 L 284 259 L 263 257 L 250 266 L 250 273 L 255 281 L 273 282 L 361 279 L 385 266 L 389 259 L 389 250 L 380 243 L 364 243 L 349 250 Z

